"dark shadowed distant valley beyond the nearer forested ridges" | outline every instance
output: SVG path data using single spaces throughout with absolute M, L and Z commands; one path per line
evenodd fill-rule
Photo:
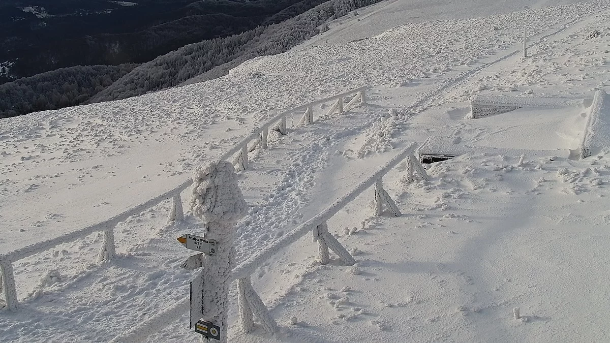
M 76 65 L 143 63 L 181 46 L 248 31 L 301 0 L 4 0 L 5 78 Z M 26 6 L 27 4 L 27 6 Z

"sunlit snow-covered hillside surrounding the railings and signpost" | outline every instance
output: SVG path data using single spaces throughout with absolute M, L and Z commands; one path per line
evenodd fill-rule
M 281 332 L 232 325 L 230 340 L 607 341 L 610 150 L 582 160 L 570 151 L 583 142 L 595 91 L 610 90 L 610 1 L 564 2 L 573 1 L 382 2 L 220 79 L 2 120 L 0 253 L 172 189 L 281 110 L 369 86 L 368 104 L 342 115 L 317 107 L 312 126 L 289 118 L 289 134 L 251 154 L 240 172 L 249 210 L 238 262 L 409 142 L 450 137 L 461 156 L 430 165 L 428 182 L 406 184 L 404 166 L 384 177 L 401 217 L 373 217 L 370 190 L 329 220 L 356 265 L 337 256 L 318 264 L 310 237 L 261 265 L 253 286 Z M 478 94 L 569 106 L 464 119 Z M 190 216 L 165 225 L 170 205 L 120 223 L 110 262 L 95 262 L 102 237 L 92 234 L 13 263 L 22 304 L 0 310 L 2 341 L 110 341 L 181 301 L 193 273 L 179 267 L 190 254 L 176 237 L 200 228 Z M 187 322 L 185 313 L 145 341 L 194 339 Z

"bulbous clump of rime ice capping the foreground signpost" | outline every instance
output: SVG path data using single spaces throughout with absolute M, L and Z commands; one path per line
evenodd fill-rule
M 205 222 L 232 223 L 243 217 L 246 202 L 231 163 L 202 165 L 193 171 L 190 209 Z

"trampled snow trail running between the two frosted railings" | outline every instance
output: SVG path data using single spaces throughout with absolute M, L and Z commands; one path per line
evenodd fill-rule
M 256 151 L 249 170 L 241 173 L 240 184 L 250 207 L 237 227 L 237 261 L 325 206 L 324 202 L 310 201 L 308 190 L 320 178 L 318 174 L 331 167 L 329 156 L 370 127 L 379 118 L 378 112 L 375 107 L 361 107 L 342 115 L 317 117 L 314 125 L 290 128 L 287 135 L 270 136 L 270 150 Z M 374 171 L 389 156 L 375 157 L 376 162 L 361 165 L 359 172 Z M 77 241 L 78 249 L 64 244 L 35 255 L 35 264 L 30 259 L 16 262 L 20 298 L 26 295 L 26 299 L 14 316 L 3 318 L 8 320 L 5 336 L 17 339 L 26 334 L 29 342 L 46 341 L 50 336 L 60 341 L 109 341 L 117 328 L 132 327 L 138 320 L 163 311 L 162 304 L 184 298 L 192 273 L 179 267 L 189 253 L 176 237 L 197 234 L 201 229 L 190 217 L 187 223 L 165 226 L 168 205 L 154 206 L 117 228 L 119 256 L 112 262 L 93 264 L 101 238 L 97 234 Z M 75 270 L 58 261 L 83 267 Z M 54 266 L 38 283 L 24 282 L 32 279 L 28 273 L 49 270 L 49 264 Z M 24 289 L 27 294 L 23 294 Z M 100 310 L 85 313 L 85 308 Z M 40 328 L 32 333 L 21 331 L 24 320 Z M 105 324 L 98 330 L 75 331 L 68 325 L 74 321 L 79 325 Z

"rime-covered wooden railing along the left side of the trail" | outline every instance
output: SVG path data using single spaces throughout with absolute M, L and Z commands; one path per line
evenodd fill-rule
M 236 167 L 241 170 L 248 168 L 248 152 L 256 148 L 266 149 L 267 134 L 270 130 L 279 131 L 281 134 L 287 133 L 286 118 L 289 115 L 302 113 L 300 123 L 303 125 L 310 125 L 314 123 L 314 106 L 330 103 L 332 106 L 328 110 L 328 114 L 339 112 L 341 114 L 347 107 L 353 106 L 354 104 L 360 105 L 366 101 L 366 88 L 361 87 L 349 92 L 334 95 L 329 98 L 314 101 L 312 103 L 304 104 L 303 106 L 294 107 L 281 114 L 278 114 L 265 121 L 259 128 L 254 129 L 253 132 L 247 135 L 241 142 L 237 143 L 231 150 L 218 157 L 220 161 L 234 162 Z M 234 158 L 232 158 L 234 157 Z M 84 238 L 92 233 L 102 232 L 104 233 L 104 242 L 99 251 L 98 261 L 106 261 L 115 257 L 115 239 L 114 239 L 114 228 L 120 222 L 124 222 L 127 218 L 132 215 L 140 214 L 148 208 L 155 206 L 167 199 L 173 199 L 171 206 L 171 212 L 168 215 L 168 221 L 173 222 L 176 220 L 182 220 L 184 214 L 182 211 L 182 199 L 180 193 L 187 189 L 193 183 L 192 179 L 179 184 L 179 186 L 168 190 L 165 193 L 158 195 L 145 203 L 139 204 L 134 208 L 127 209 L 121 214 L 117 214 L 108 220 L 94 225 L 87 226 L 86 228 L 78 229 L 62 236 L 54 237 L 43 242 L 37 242 L 32 245 L 20 248 L 18 250 L 10 251 L 0 255 L 0 287 L 4 294 L 4 300 L 8 309 L 15 309 L 18 306 L 17 291 L 15 284 L 15 276 L 13 273 L 13 263 L 28 256 L 32 256 L 37 253 L 43 253 L 46 250 L 56 247 L 59 244 L 65 244 L 73 242 L 74 240 Z

